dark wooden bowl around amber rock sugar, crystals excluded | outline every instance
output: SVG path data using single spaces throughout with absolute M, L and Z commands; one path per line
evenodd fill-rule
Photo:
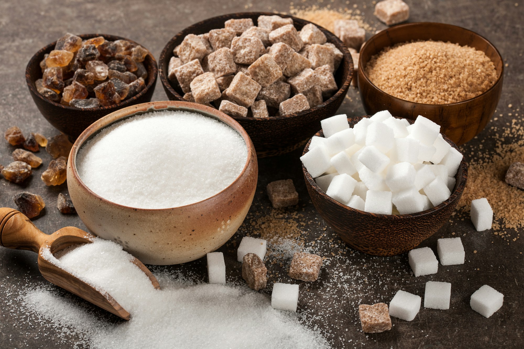
M 106 40 L 129 40 L 120 36 L 107 35 L 107 34 L 82 34 L 79 35 L 82 39 L 90 39 L 97 36 L 103 36 Z M 139 45 L 137 42 L 135 42 Z M 54 49 L 55 42 L 51 42 L 46 47 L 35 53 L 29 60 L 26 67 L 26 82 L 29 92 L 31 93 L 32 99 L 35 101 L 36 106 L 43 117 L 49 121 L 51 125 L 58 128 L 60 132 L 69 136 L 71 141 L 77 139 L 78 136 L 86 129 L 89 125 L 100 119 L 101 117 L 111 114 L 123 107 L 146 103 L 151 101 L 153 92 L 155 91 L 155 84 L 157 82 L 158 66 L 155 57 L 152 54 L 148 54 L 144 60 L 144 67 L 147 69 L 146 87 L 140 91 L 136 96 L 131 97 L 128 100 L 124 100 L 121 103 L 100 106 L 97 108 L 75 108 L 65 106 L 60 103 L 52 102 L 46 97 L 43 97 L 36 90 L 35 81 L 42 78 L 42 71 L 40 69 L 40 61 L 43 59 L 44 54 L 51 52 Z

